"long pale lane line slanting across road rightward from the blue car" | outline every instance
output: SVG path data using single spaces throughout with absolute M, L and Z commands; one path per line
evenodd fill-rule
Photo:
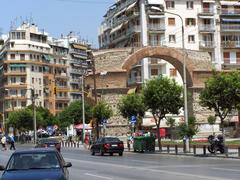
M 176 176 L 185 176 L 185 177 L 192 177 L 192 178 L 199 178 L 199 179 L 208 179 L 208 180 L 233 180 L 230 178 L 220 178 L 220 177 L 213 177 L 213 176 L 204 176 L 204 175 L 197 175 L 197 174 L 187 174 L 187 173 L 181 173 L 181 172 L 173 172 L 173 171 L 168 171 L 168 170 L 159 170 L 159 169 L 148 169 L 148 168 L 142 168 L 142 167 L 136 167 L 136 166 L 129 166 L 129 165 L 118 165 L 118 164 L 109 164 L 109 163 L 102 163 L 102 162 L 90 162 L 90 161 L 85 161 L 85 160 L 76 160 L 76 159 L 70 159 L 70 158 L 65 158 L 69 161 L 75 161 L 75 162 L 83 162 L 85 164 L 98 164 L 98 165 L 105 165 L 105 166 L 115 166 L 119 168 L 126 168 L 126 169 L 136 169 L 136 170 L 141 170 L 141 171 L 151 171 L 151 172 L 156 172 L 156 173 L 164 173 L 164 174 L 169 174 L 169 175 L 176 175 Z

